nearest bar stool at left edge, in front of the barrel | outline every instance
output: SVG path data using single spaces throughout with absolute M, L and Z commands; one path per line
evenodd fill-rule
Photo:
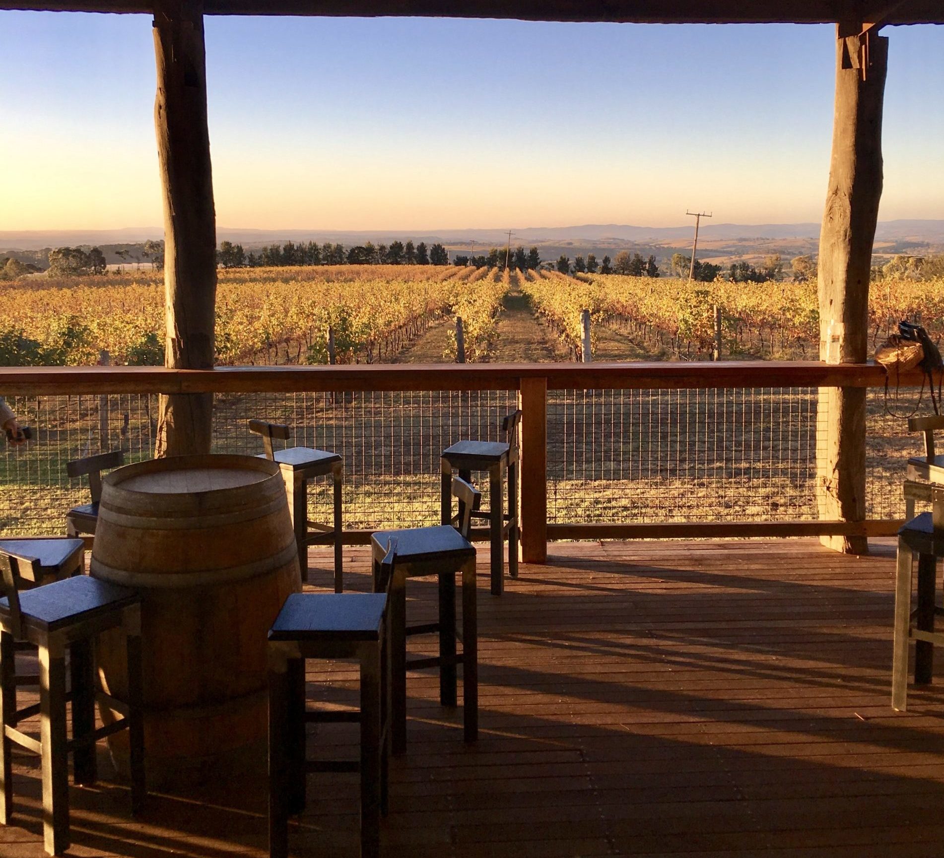
M 141 599 L 126 587 L 79 575 L 20 592 L 20 559 L 0 551 L 0 823 L 13 811 L 12 745 L 42 759 L 42 829 L 45 849 L 59 854 L 70 845 L 68 755 L 76 783 L 97 777 L 95 742 L 127 729 L 131 768 L 131 810 L 144 800 L 144 732 L 141 713 Z M 122 628 L 126 634 L 127 697 L 95 692 L 94 638 Z M 39 648 L 40 702 L 16 708 L 15 640 Z M 66 694 L 65 650 L 69 648 L 72 691 Z M 73 738 L 66 731 L 66 701 L 72 700 Z M 95 730 L 95 701 L 123 718 Z M 20 721 L 40 715 L 40 738 L 18 730 Z

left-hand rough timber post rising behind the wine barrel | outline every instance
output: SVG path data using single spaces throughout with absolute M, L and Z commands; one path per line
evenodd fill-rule
M 164 205 L 164 364 L 212 369 L 216 213 L 202 0 L 157 0 L 154 126 Z M 212 394 L 160 396 L 158 456 L 209 453 Z

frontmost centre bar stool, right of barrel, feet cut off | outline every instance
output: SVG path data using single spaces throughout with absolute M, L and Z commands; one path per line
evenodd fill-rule
M 394 567 L 392 547 L 382 561 Z M 307 772 L 361 773 L 361 855 L 379 855 L 379 817 L 387 813 L 390 754 L 390 658 L 384 593 L 295 593 L 269 631 L 269 854 L 288 855 L 288 817 L 305 807 Z M 305 659 L 357 659 L 361 708 L 357 712 L 309 712 L 305 707 Z M 361 724 L 361 759 L 309 761 L 305 724 Z

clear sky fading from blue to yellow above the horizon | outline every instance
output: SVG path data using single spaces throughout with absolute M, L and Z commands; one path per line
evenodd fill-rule
M 944 26 L 891 27 L 880 218 L 944 218 Z M 818 221 L 834 28 L 206 19 L 222 227 Z M 160 225 L 150 18 L 0 11 L 0 230 Z

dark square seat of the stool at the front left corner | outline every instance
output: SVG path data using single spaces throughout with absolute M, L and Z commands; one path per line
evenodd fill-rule
M 134 590 L 87 575 L 24 590 L 19 598 L 24 629 L 42 631 L 88 622 L 97 614 L 110 614 L 140 600 Z M 0 619 L 7 619 L 9 614 L 9 599 L 0 598 Z

